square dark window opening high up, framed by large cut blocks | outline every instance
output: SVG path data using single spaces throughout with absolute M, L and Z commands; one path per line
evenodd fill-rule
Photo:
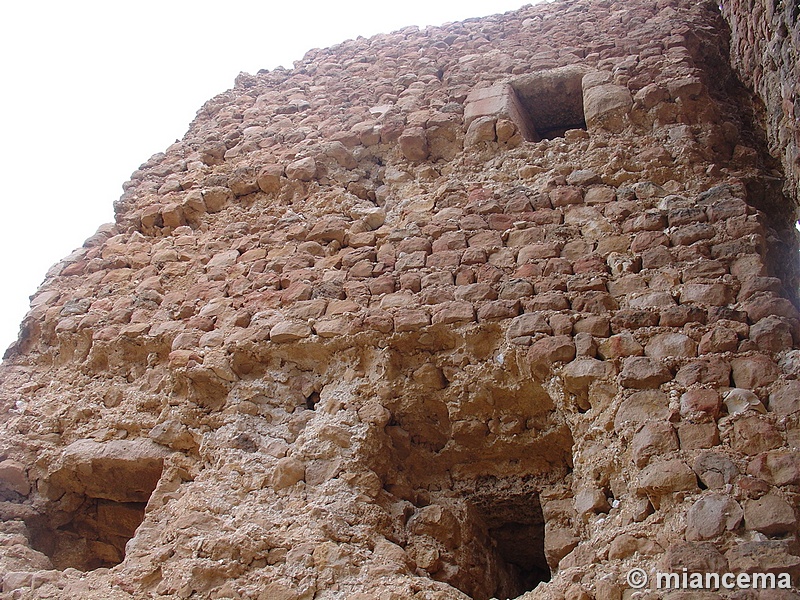
M 563 137 L 569 129 L 586 129 L 581 87 L 585 73 L 580 67 L 567 66 L 523 75 L 511 82 L 518 105 L 538 139 Z

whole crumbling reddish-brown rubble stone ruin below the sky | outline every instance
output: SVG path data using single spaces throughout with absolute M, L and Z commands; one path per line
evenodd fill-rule
M 560 1 L 241 74 L 6 353 L 0 598 L 796 582 L 797 23 Z

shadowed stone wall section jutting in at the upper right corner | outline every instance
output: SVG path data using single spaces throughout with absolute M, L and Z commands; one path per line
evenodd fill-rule
M 793 0 L 725 0 L 731 58 L 761 100 L 770 151 L 780 158 L 789 194 L 800 197 L 800 5 Z

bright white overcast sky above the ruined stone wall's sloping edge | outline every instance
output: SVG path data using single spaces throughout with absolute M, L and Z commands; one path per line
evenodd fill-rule
M 0 8 L 0 354 L 47 269 L 240 71 L 531 0 L 9 0 Z

